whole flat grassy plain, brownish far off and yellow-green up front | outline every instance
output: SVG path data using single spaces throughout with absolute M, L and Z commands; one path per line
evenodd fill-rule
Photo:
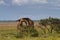
M 54 30 L 49 33 L 47 29 L 43 30 L 36 26 L 35 29 L 38 31 L 38 37 L 25 36 L 23 38 L 18 38 L 19 30 L 17 30 L 17 22 L 0 22 L 0 40 L 60 40 L 60 34 L 56 33 Z

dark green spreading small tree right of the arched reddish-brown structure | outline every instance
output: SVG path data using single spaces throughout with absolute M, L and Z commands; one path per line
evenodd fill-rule
M 47 30 L 52 33 L 52 30 L 55 30 L 55 31 L 58 30 L 59 28 L 58 24 L 60 24 L 60 19 L 49 17 L 47 19 L 41 19 L 39 24 L 43 25 L 45 28 L 47 28 L 47 25 L 50 25 L 51 31 L 49 31 L 48 28 Z

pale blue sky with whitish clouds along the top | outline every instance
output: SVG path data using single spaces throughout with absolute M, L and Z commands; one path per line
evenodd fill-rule
M 60 0 L 0 0 L 0 20 L 60 18 Z

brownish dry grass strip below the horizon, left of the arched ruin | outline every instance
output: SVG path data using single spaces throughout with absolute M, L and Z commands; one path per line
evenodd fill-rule
M 0 30 L 17 29 L 17 22 L 0 23 Z

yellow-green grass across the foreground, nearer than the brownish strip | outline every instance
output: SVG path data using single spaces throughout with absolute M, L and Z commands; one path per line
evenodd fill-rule
M 39 37 L 23 37 L 17 38 L 17 31 L 16 30 L 0 30 L 0 40 L 60 40 L 60 36 L 56 33 L 52 34 L 45 34 Z

